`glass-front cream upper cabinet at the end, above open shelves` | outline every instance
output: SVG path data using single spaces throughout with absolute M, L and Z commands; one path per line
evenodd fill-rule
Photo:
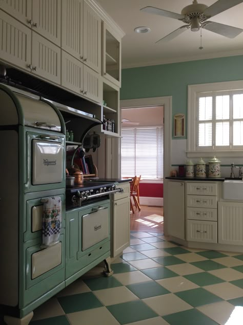
M 103 76 L 120 87 L 121 46 L 111 28 L 103 22 Z

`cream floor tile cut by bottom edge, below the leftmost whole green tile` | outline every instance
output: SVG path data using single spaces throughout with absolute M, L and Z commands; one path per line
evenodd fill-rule
M 67 314 L 71 325 L 119 325 L 119 322 L 105 307 Z

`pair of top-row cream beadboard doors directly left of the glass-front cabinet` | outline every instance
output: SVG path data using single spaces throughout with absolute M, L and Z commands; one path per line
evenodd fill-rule
M 93 70 L 101 71 L 102 20 L 84 0 L 62 2 L 62 48 Z

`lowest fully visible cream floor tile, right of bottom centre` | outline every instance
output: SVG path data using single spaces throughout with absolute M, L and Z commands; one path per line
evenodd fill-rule
M 142 300 L 159 316 L 192 309 L 191 305 L 174 294 L 167 294 Z

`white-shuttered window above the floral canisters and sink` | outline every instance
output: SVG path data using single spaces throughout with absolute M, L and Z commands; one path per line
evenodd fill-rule
M 188 156 L 242 156 L 243 81 L 188 86 Z

